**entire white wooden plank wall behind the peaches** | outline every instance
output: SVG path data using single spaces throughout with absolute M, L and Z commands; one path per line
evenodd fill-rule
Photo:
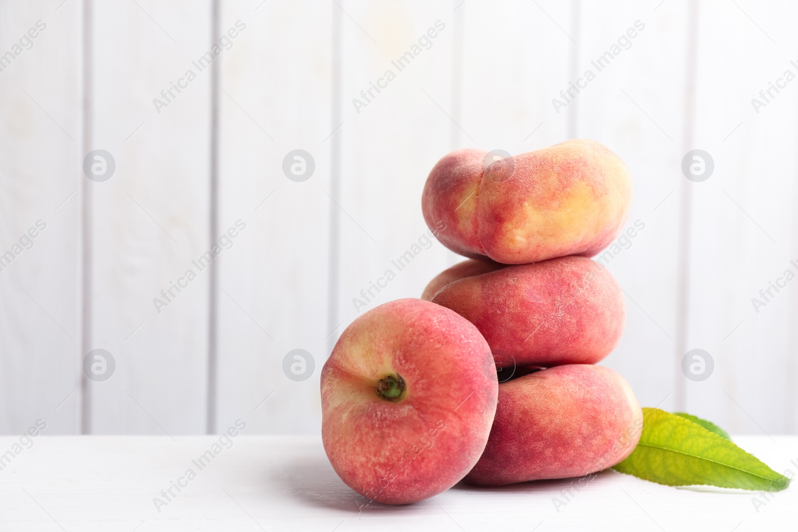
M 795 283 L 758 313 L 751 301 L 798 274 L 798 81 L 758 113 L 751 104 L 784 70 L 798 75 L 789 2 L 59 4 L 0 4 L 0 52 L 47 24 L 0 72 L 0 252 L 47 223 L 0 271 L 0 432 L 38 417 L 53 433 L 216 432 L 239 418 L 251 433 L 318 432 L 318 372 L 346 325 L 418 297 L 460 260 L 426 240 L 433 164 L 456 148 L 520 153 L 570 137 L 626 161 L 627 227 L 645 224 L 606 262 L 628 317 L 604 364 L 644 405 L 730 432 L 796 432 Z M 214 43 L 215 67 L 200 72 L 192 61 Z M 599 71 L 591 61 L 613 45 Z M 153 98 L 188 69 L 196 79 L 159 113 Z M 552 99 L 588 69 L 557 112 Z M 97 148 L 117 165 L 102 183 L 81 167 Z M 681 172 L 693 148 L 714 161 L 701 183 Z M 283 171 L 294 150 L 312 156 L 307 179 Z M 166 301 L 160 290 L 189 269 Z M 396 278 L 364 298 L 386 270 Z M 107 381 L 84 379 L 85 396 L 84 348 L 117 364 Z M 312 372 L 291 373 L 290 357 L 284 371 L 294 349 Z M 687 349 L 710 353 L 712 376 L 685 379 Z

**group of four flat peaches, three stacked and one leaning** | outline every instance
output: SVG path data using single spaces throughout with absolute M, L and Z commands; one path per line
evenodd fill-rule
M 593 140 L 438 161 L 425 221 L 468 260 L 338 339 L 321 375 L 322 442 L 344 483 L 408 504 L 461 480 L 580 477 L 630 455 L 641 408 L 595 365 L 618 345 L 626 305 L 591 257 L 622 230 L 631 191 L 626 165 Z

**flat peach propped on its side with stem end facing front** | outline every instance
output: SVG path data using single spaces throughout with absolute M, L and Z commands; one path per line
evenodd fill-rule
M 355 319 L 321 376 L 322 442 L 338 476 L 388 504 L 459 482 L 496 412 L 492 362 L 476 327 L 429 301 L 390 301 Z

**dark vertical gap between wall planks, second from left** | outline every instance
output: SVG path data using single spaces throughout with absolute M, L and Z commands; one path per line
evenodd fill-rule
M 216 36 L 219 35 L 219 0 L 211 0 L 211 45 Z M 219 226 L 219 63 L 211 62 L 211 168 L 208 206 L 208 249 L 215 243 L 216 234 Z M 218 266 L 215 262 L 209 268 L 210 277 L 208 279 L 208 298 L 207 298 L 207 405 L 205 430 L 207 434 L 216 432 L 216 408 L 217 408 L 217 288 L 218 288 Z

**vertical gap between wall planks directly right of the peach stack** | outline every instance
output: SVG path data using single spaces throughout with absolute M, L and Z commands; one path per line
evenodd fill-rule
M 682 130 L 682 153 L 693 149 L 695 134 L 695 83 L 698 62 L 698 2 L 688 2 L 688 29 L 685 65 L 685 104 Z M 680 177 L 681 179 L 681 177 Z M 693 224 L 693 188 L 687 180 L 681 182 L 681 207 L 679 210 L 679 262 L 677 275 L 676 341 L 674 352 L 674 400 L 679 411 L 686 409 L 685 379 L 681 374 L 681 357 L 687 353 L 687 319 L 689 312 L 690 231 Z

